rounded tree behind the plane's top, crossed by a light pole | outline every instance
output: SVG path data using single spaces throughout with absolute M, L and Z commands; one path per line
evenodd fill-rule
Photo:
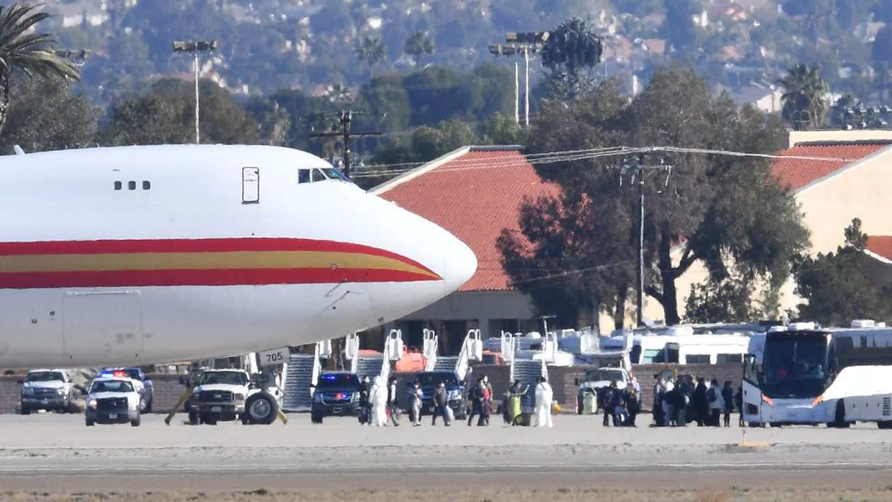
M 232 95 L 210 80 L 201 84 L 204 143 L 252 145 L 259 141 L 257 122 Z M 194 141 L 194 84 L 161 80 L 144 94 L 111 107 L 100 133 L 106 145 L 163 145 Z

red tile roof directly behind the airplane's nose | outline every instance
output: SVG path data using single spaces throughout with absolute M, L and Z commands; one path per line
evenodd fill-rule
M 519 230 L 524 196 L 556 195 L 558 186 L 543 182 L 516 147 L 471 147 L 378 194 L 437 223 L 474 250 L 477 272 L 459 291 L 493 291 L 512 289 L 496 248 L 502 229 Z

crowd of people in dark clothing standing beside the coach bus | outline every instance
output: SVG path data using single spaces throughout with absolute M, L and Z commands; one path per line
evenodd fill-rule
M 731 427 L 731 412 L 742 406 L 742 390 L 725 381 L 722 386 L 716 379 L 706 385 L 706 379 L 690 375 L 678 381 L 660 376 L 654 385 L 654 424 L 657 427 L 684 427 L 696 422 L 699 427 Z M 724 418 L 724 420 L 722 420 Z

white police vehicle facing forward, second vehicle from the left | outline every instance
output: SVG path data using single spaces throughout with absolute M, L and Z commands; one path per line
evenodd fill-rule
M 130 423 L 139 427 L 140 395 L 124 372 L 103 373 L 87 391 L 87 427 L 94 423 Z

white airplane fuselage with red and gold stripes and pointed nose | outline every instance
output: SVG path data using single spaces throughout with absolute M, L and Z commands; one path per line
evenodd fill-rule
M 0 367 L 148 364 L 341 337 L 475 272 L 446 230 L 271 146 L 0 158 Z

